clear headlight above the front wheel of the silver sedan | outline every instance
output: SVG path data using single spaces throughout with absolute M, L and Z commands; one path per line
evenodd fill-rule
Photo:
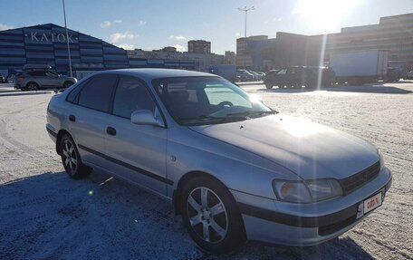
M 342 195 L 339 182 L 332 178 L 305 182 L 274 180 L 273 186 L 280 200 L 293 203 L 311 203 Z

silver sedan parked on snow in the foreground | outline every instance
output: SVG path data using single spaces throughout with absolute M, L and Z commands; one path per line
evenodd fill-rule
M 167 197 L 218 253 L 246 239 L 320 244 L 381 206 L 391 184 L 368 141 L 203 72 L 97 72 L 53 96 L 46 130 L 71 178 L 101 169 Z

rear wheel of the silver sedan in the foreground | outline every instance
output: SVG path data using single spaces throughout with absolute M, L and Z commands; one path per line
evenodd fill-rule
M 70 135 L 65 134 L 62 137 L 60 149 L 64 170 L 70 178 L 82 178 L 91 173 L 91 168 L 83 165 L 76 144 Z

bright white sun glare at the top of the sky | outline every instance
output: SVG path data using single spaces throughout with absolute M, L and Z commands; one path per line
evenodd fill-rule
M 303 16 L 313 30 L 330 33 L 358 3 L 357 0 L 300 0 L 293 14 Z

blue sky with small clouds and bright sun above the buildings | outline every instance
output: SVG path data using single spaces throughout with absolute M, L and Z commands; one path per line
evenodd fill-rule
M 187 39 L 211 41 L 212 52 L 235 51 L 244 35 L 276 32 L 322 34 L 341 27 L 378 24 L 380 16 L 413 13 L 413 0 L 65 0 L 68 27 L 116 45 L 159 49 L 187 47 Z M 60 0 L 1 0 L 0 30 L 35 24 L 63 25 Z

